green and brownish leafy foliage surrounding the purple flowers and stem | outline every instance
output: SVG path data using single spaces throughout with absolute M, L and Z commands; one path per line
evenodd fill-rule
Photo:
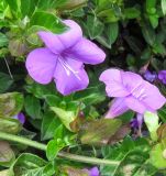
M 104 63 L 86 66 L 88 88 L 69 96 L 54 82 L 35 82 L 25 69 L 27 54 L 43 46 L 37 32 L 66 32 L 63 19 L 75 20 L 107 54 Z M 130 125 L 132 111 L 103 119 L 110 100 L 99 81 L 109 67 L 142 76 L 147 68 L 166 69 L 165 29 L 166 0 L 1 0 L 0 132 L 33 139 L 46 150 L 2 139 L 0 176 L 87 176 L 93 165 L 101 176 L 166 175 L 166 107 L 146 112 L 142 129 Z M 153 84 L 166 96 L 158 79 Z M 20 112 L 24 124 L 14 119 Z M 118 164 L 78 163 L 60 157 L 62 151 Z

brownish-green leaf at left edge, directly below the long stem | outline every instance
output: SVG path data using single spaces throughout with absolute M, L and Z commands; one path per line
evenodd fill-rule
M 14 160 L 15 155 L 9 143 L 0 141 L 0 165 L 9 167 Z

